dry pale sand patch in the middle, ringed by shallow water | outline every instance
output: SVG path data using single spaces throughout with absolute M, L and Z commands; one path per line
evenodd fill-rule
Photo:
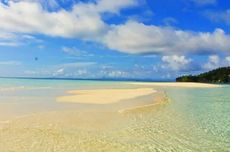
M 121 100 L 149 95 L 155 92 L 156 90 L 153 90 L 152 88 L 74 90 L 68 92 L 73 95 L 58 97 L 57 101 L 88 104 L 110 104 Z

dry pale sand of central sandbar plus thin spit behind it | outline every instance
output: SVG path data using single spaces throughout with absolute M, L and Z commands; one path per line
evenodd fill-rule
M 129 83 L 134 86 L 145 86 L 149 88 L 133 89 L 90 89 L 90 90 L 71 90 L 68 96 L 60 96 L 58 102 L 86 103 L 86 104 L 110 104 L 122 100 L 134 99 L 140 96 L 157 93 L 154 87 L 185 87 L 185 88 L 216 88 L 215 84 L 204 83 Z M 151 88 L 152 87 L 152 88 Z

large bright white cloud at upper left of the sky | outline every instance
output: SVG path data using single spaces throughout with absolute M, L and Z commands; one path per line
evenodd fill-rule
M 75 9 L 50 13 L 32 2 L 0 4 L 0 12 L 0 29 L 9 32 L 85 38 L 96 36 L 105 26 L 98 14 Z

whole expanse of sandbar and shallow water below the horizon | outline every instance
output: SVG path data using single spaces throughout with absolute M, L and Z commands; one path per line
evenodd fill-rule
M 226 151 L 230 146 L 228 87 L 92 81 L 33 81 L 31 87 L 32 81 L 15 81 L 22 90 L 5 89 L 0 97 L 1 108 L 12 111 L 0 121 L 3 152 Z M 9 103 L 17 106 L 10 109 Z

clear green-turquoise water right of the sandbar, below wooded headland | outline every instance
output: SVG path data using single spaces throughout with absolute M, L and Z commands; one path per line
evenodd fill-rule
M 201 141 L 214 151 L 230 151 L 230 87 L 210 89 L 168 89 L 172 109 L 200 133 Z M 199 136 L 199 134 L 197 135 Z M 210 149 L 211 151 L 212 149 Z

